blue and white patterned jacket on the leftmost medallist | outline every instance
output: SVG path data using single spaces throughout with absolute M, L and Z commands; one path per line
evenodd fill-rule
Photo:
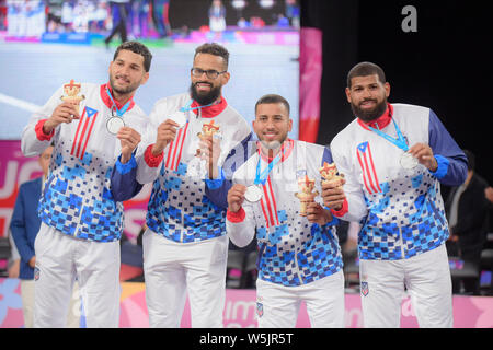
M 121 153 L 121 143 L 106 129 L 112 117 L 112 101 L 106 84 L 82 83 L 80 119 L 60 124 L 51 135 L 43 133 L 44 120 L 62 102 L 58 89 L 30 119 L 22 133 L 25 155 L 41 154 L 51 142 L 54 152 L 44 192 L 39 200 L 39 218 L 48 226 L 81 240 L 111 242 L 123 232 L 123 205 L 114 199 L 111 175 Z M 139 133 L 146 130 L 145 113 L 130 100 L 123 115 L 125 124 Z

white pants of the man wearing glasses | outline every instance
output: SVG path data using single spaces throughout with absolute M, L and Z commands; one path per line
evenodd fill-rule
M 147 230 L 142 247 L 150 327 L 179 328 L 188 292 L 192 327 L 221 328 L 228 237 L 183 244 Z

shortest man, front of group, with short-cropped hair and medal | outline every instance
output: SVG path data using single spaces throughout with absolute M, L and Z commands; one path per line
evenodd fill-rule
M 288 102 L 275 94 L 255 105 L 257 152 L 233 175 L 228 192 L 227 232 L 238 246 L 256 234 L 256 311 L 261 328 L 293 328 L 301 302 L 312 327 L 344 327 L 344 276 L 335 233 L 337 220 L 320 203 L 307 215 L 296 198 L 298 184 L 317 179 L 332 163 L 329 149 L 291 140 Z

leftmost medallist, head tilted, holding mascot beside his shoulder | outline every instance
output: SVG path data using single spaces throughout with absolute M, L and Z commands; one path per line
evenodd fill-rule
M 118 154 L 130 159 L 146 130 L 147 117 L 134 94 L 149 79 L 151 59 L 142 44 L 122 44 L 107 83 L 70 81 L 23 130 L 27 156 L 54 144 L 34 246 L 34 327 L 65 326 L 76 279 L 88 327 L 118 326 L 124 220 L 111 174 Z

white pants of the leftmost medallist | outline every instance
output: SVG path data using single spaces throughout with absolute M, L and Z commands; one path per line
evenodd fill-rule
M 118 327 L 119 242 L 78 240 L 42 223 L 34 249 L 34 327 L 66 326 L 76 277 L 87 326 Z

